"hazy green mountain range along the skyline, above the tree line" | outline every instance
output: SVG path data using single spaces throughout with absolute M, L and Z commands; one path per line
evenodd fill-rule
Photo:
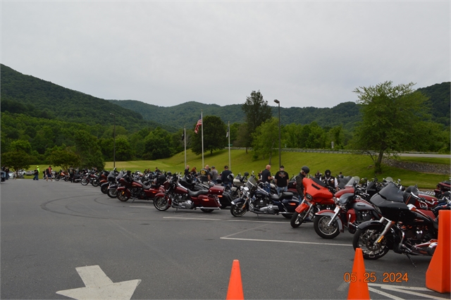
M 433 121 L 449 126 L 450 82 L 424 87 L 419 91 L 430 97 Z M 135 100 L 105 100 L 23 75 L 1 65 L 2 112 L 56 118 L 87 125 L 112 125 L 113 117 L 110 114 L 113 113 L 116 115 L 116 125 L 122 125 L 130 132 L 148 126 L 160 126 L 175 132 L 184 126 L 194 127 L 201 110 L 204 115 L 216 115 L 225 123 L 242 123 L 245 120 L 240 104 L 218 106 L 190 101 L 163 107 Z M 273 116 L 278 117 L 277 107 L 273 107 Z M 280 108 L 280 122 L 283 125 L 304 125 L 315 121 L 321 127 L 342 125 L 352 131 L 359 120 L 359 106 L 354 102 L 344 102 L 333 108 Z

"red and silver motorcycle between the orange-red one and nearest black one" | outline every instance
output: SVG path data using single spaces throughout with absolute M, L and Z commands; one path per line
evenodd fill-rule
M 335 209 L 323 210 L 315 214 L 314 228 L 317 235 L 323 239 L 333 239 L 344 232 L 344 227 L 354 234 L 360 223 L 369 220 L 379 220 L 374 207 L 361 196 L 367 196 L 357 185 L 358 177 L 353 177 L 344 189 L 335 193 Z

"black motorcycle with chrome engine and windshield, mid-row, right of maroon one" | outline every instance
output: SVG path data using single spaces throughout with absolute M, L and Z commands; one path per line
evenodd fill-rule
M 254 175 L 251 175 L 245 186 L 241 187 L 242 196 L 232 201 L 230 213 L 235 217 L 245 215 L 247 211 L 266 215 L 283 215 L 291 219 L 299 200 L 292 192 L 283 192 L 279 195 L 269 194 L 257 185 Z

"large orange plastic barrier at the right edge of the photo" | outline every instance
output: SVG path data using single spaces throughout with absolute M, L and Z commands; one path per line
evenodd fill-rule
M 439 293 L 450 291 L 451 211 L 439 211 L 438 245 L 426 271 L 426 287 Z

